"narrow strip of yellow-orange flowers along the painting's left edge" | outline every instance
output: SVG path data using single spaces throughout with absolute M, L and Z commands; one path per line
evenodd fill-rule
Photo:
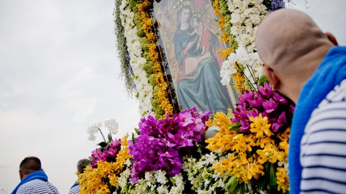
M 147 12 L 148 7 L 151 5 L 152 1 L 143 0 L 141 3 L 138 3 L 136 6 L 138 8 L 141 20 L 143 22 L 142 30 L 145 32 L 147 39 L 149 40 L 149 57 L 150 60 L 154 63 L 153 72 L 156 75 L 156 84 L 158 86 L 157 98 L 160 102 L 160 107 L 165 111 L 165 114 L 173 114 L 173 106 L 170 103 L 167 95 L 168 84 L 165 82 L 163 73 L 160 66 L 159 52 L 161 52 L 156 47 L 157 36 L 154 30 L 153 18 Z

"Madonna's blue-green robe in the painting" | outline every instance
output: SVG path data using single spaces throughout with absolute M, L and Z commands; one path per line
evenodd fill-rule
M 193 28 L 190 27 L 187 30 L 180 30 L 180 33 L 179 31 L 174 33 L 175 59 L 180 67 L 189 65 L 185 64 L 183 51 L 188 43 L 197 36 L 197 34 L 189 35 L 188 33 L 191 32 L 193 32 Z M 210 33 L 212 43 L 209 50 L 212 56 L 202 60 L 197 68 L 187 75 L 183 72 L 184 68 L 181 68 L 182 76 L 178 78 L 177 96 L 183 109 L 189 109 L 197 105 L 198 111 L 211 110 L 227 113 L 227 107 L 233 108 L 233 106 L 226 87 L 220 82 L 220 67 L 215 56 L 215 44 L 218 40 L 214 33 Z M 196 45 L 193 47 L 196 48 Z M 185 56 L 197 57 L 198 53 L 193 47 Z

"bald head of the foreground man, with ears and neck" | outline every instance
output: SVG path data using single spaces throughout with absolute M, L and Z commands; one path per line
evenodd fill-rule
M 259 25 L 256 47 L 265 64 L 263 69 L 274 89 L 284 95 L 300 92 L 328 50 L 337 44 L 334 36 L 323 33 L 301 11 L 279 9 Z M 290 86 L 289 86 L 290 85 Z M 299 88 L 299 91 L 293 91 Z M 295 96 L 290 97 L 295 101 Z

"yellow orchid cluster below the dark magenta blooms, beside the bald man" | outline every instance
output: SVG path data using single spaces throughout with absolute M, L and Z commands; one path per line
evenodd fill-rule
M 214 165 L 216 171 L 221 174 L 235 175 L 240 182 L 247 183 L 251 179 L 257 180 L 260 175 L 264 175 L 265 162 L 276 163 L 287 159 L 290 129 L 275 135 L 270 130 L 267 117 L 259 114 L 257 118 L 250 117 L 250 133 L 237 133 L 230 129 L 230 118 L 224 113 L 217 112 L 213 118 L 206 122 L 206 125 L 216 126 L 220 132 L 206 140 L 207 148 L 220 154 L 229 153 L 226 159 Z M 277 146 L 275 140 L 278 139 L 281 142 Z M 287 174 L 281 168 L 277 170 L 280 170 L 277 174 L 279 187 L 287 191 Z

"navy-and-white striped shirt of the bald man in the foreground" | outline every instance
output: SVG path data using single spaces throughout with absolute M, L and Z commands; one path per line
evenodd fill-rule
M 300 160 L 301 194 L 346 194 L 346 80 L 312 112 Z

